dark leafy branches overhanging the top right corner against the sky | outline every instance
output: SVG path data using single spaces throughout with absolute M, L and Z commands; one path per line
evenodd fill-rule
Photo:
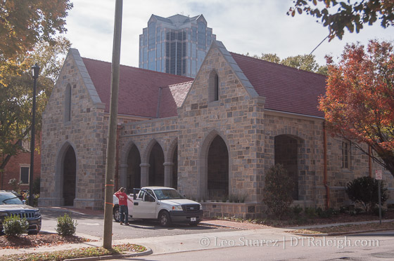
M 372 25 L 378 19 L 383 28 L 394 25 L 393 0 L 295 0 L 293 3 L 294 6 L 291 6 L 287 14 L 294 16 L 305 12 L 321 18 L 323 26 L 329 28 L 330 40 L 335 36 L 342 39 L 345 28 L 349 32 L 358 33 L 364 25 Z

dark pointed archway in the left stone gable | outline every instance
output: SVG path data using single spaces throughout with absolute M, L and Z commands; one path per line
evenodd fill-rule
M 77 181 L 77 160 L 74 149 L 68 147 L 63 160 L 63 205 L 74 206 Z

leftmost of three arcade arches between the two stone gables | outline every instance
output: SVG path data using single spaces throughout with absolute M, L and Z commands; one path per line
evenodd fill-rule
M 136 145 L 133 145 L 127 156 L 127 193 L 132 193 L 134 187 L 141 187 L 141 156 Z

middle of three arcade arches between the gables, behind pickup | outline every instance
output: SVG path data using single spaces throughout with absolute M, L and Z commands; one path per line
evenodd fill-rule
M 164 153 L 155 142 L 149 156 L 149 186 L 164 186 Z

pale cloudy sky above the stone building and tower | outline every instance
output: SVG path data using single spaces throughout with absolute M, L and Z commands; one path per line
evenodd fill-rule
M 72 0 L 65 36 L 84 58 L 111 62 L 115 0 Z M 329 33 L 310 15 L 286 15 L 292 0 L 123 0 L 120 64 L 138 67 L 139 34 L 152 14 L 203 14 L 218 41 L 228 51 L 250 55 L 276 53 L 280 58 L 309 54 Z M 384 29 L 379 20 L 360 33 L 345 29 L 342 40 L 324 41 L 313 55 L 320 65 L 325 55 L 334 60 L 346 43 L 367 45 L 370 39 L 394 41 L 394 27 Z

